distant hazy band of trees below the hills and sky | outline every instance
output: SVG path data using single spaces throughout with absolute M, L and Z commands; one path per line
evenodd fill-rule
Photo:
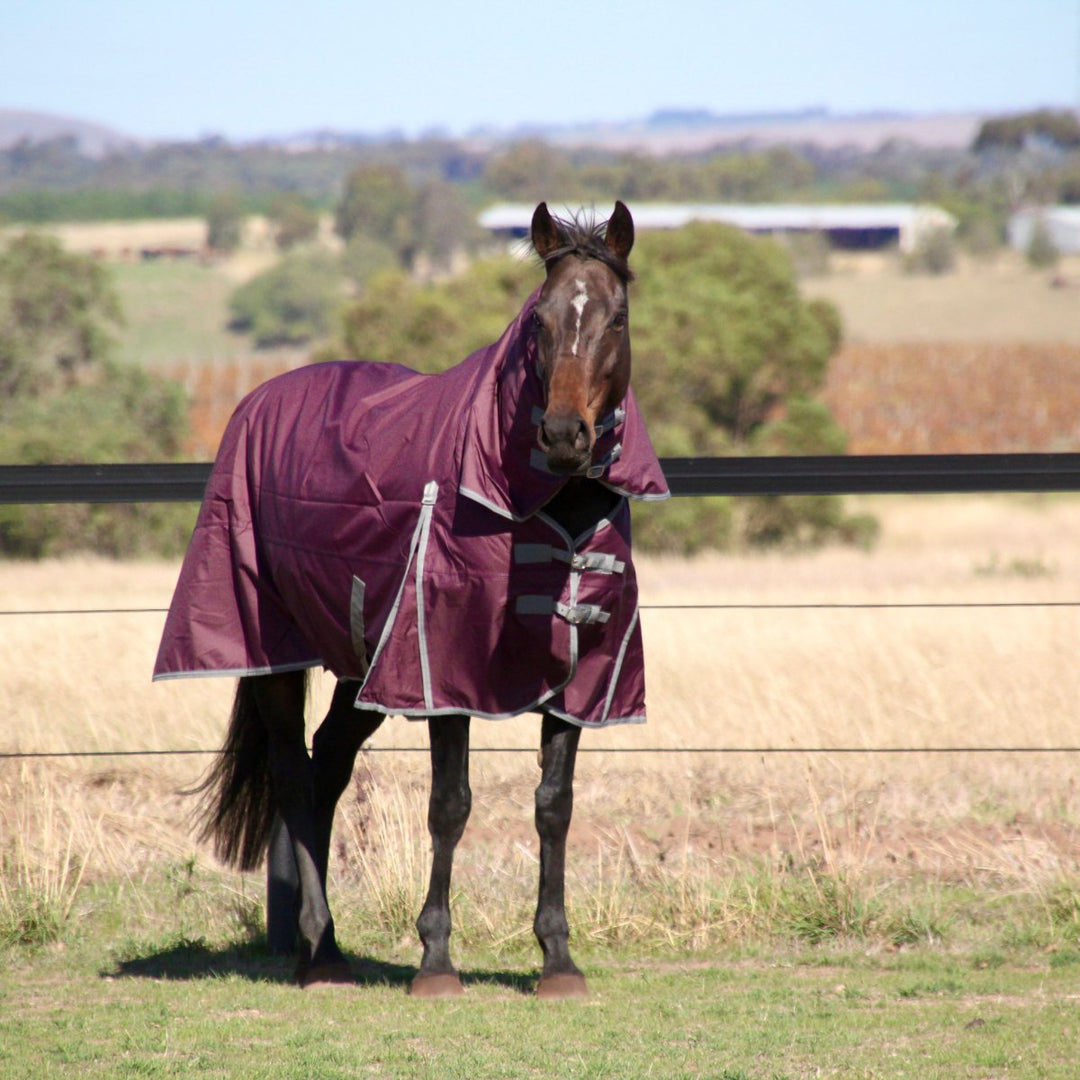
M 994 117 L 967 149 L 894 140 L 872 151 L 727 146 L 665 157 L 539 139 L 480 150 L 448 138 L 307 149 L 207 138 L 92 159 L 73 138 L 24 140 L 0 150 L 0 217 L 205 214 L 222 194 L 244 213 L 266 213 L 282 193 L 330 212 L 361 167 L 392 172 L 414 191 L 455 202 L 455 213 L 497 199 L 931 201 L 958 216 L 961 235 L 989 222 L 1000 237 L 1017 205 L 1080 203 L 1080 122 L 1067 110 Z

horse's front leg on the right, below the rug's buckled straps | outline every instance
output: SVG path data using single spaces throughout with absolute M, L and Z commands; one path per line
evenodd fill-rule
M 540 895 L 532 924 L 543 951 L 543 971 L 537 986 L 541 998 L 582 998 L 585 976 L 570 959 L 570 928 L 566 921 L 566 834 L 573 812 L 573 765 L 581 729 L 544 716 L 540 732 L 540 786 L 536 822 L 540 834 Z

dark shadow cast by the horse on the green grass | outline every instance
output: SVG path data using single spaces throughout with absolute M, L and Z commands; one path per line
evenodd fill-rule
M 370 957 L 351 955 L 349 967 L 357 986 L 389 986 L 407 990 L 417 968 L 388 963 Z M 220 978 L 227 975 L 254 983 L 294 982 L 295 960 L 269 950 L 265 940 L 214 948 L 201 940 L 181 939 L 166 947 L 153 948 L 139 956 L 120 960 L 102 972 L 103 978 L 158 978 L 186 981 Z M 461 982 L 470 986 L 501 986 L 516 994 L 531 994 L 536 976 L 514 971 L 462 972 Z

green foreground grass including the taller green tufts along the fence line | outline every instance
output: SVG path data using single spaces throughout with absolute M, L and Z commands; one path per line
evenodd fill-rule
M 958 891 L 940 906 L 955 903 L 955 921 L 967 905 L 972 923 L 945 944 L 868 935 L 852 896 L 820 882 L 792 891 L 785 917 L 801 896 L 807 926 L 837 910 L 848 926 L 768 923 L 674 949 L 579 924 L 592 997 L 544 1004 L 530 936 L 475 931 L 457 939 L 464 999 L 411 1000 L 414 935 L 376 927 L 354 894 L 337 909 L 359 984 L 300 991 L 291 960 L 265 948 L 252 888 L 193 861 L 84 887 L 51 944 L 0 950 L 0 1078 L 1077 1075 L 1080 928 L 1065 889 L 1026 921 Z M 1032 929 L 1043 915 L 1050 939 Z

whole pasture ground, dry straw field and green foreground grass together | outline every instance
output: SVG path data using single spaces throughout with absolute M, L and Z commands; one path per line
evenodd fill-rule
M 205 756 L 0 760 L 0 1076 L 1075 1076 L 1080 755 L 1053 747 L 1078 745 L 1080 609 L 815 605 L 1080 599 L 1080 499 L 865 509 L 870 554 L 640 562 L 650 723 L 584 737 L 569 900 L 594 997 L 554 1016 L 528 995 L 528 719 L 475 726 L 450 1004 L 404 996 L 421 726 L 380 731 L 342 801 L 361 985 L 329 993 L 266 954 L 260 876 L 192 840 L 177 792 Z M 9 563 L 0 595 L 162 608 L 175 572 Z M 713 603 L 735 607 L 663 606 Z M 0 617 L 0 750 L 218 745 L 228 680 L 148 681 L 161 618 Z

